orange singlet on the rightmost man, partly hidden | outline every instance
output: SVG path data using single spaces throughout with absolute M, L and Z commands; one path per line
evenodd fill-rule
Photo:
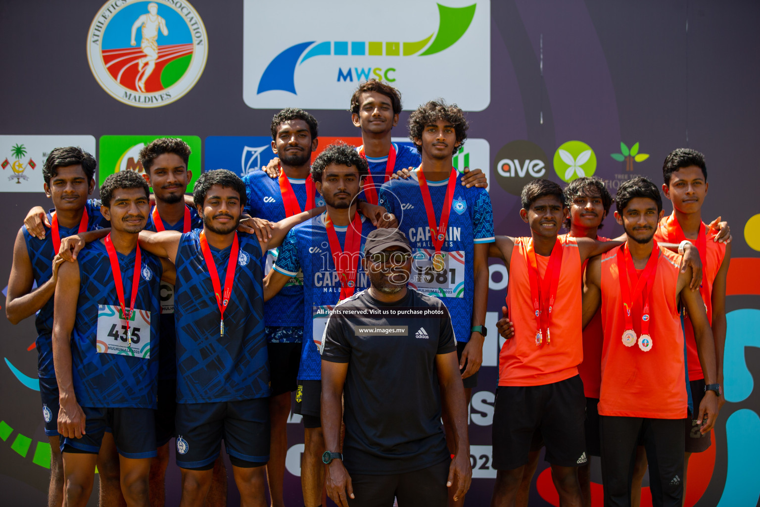
M 713 241 L 715 233 L 705 227 L 705 246 L 707 252 L 705 252 L 705 258 L 702 258 L 702 287 L 699 291 L 702 296 L 702 300 L 705 302 L 705 309 L 708 312 L 708 321 L 712 325 L 712 286 L 715 282 L 717 272 L 720 271 L 720 265 L 723 264 L 723 259 L 726 256 L 725 243 L 719 243 Z M 660 220 L 659 227 L 654 233 L 654 239 L 662 242 L 680 243 L 684 239 L 687 239 L 683 235 L 681 227 L 676 220 L 675 211 L 670 214 L 670 217 L 665 217 Z M 697 245 L 696 239 L 689 239 L 694 246 Z M 700 252 L 700 257 L 702 253 Z M 686 325 L 686 363 L 689 366 L 689 380 L 704 379 L 705 374 L 702 372 L 702 366 L 699 363 L 699 354 L 697 353 L 697 341 L 694 337 L 694 328 L 692 327 L 692 321 L 689 318 L 689 313 L 686 313 L 684 319 Z

